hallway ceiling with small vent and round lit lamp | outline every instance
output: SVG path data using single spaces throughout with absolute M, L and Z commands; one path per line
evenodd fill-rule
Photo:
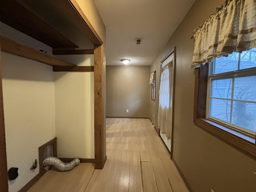
M 130 59 L 129 65 L 150 66 L 194 1 L 94 0 L 106 26 L 106 65 Z

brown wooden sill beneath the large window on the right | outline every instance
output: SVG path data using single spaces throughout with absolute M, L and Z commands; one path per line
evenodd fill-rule
M 256 156 L 255 139 L 206 118 L 196 118 L 194 123 L 226 140 L 230 144 Z

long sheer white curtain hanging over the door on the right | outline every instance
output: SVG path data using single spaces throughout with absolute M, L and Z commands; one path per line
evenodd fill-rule
M 169 62 L 161 68 L 160 74 L 160 94 L 158 108 L 158 127 L 162 134 L 170 138 L 171 133 L 171 102 L 170 102 L 170 86 L 171 86 L 171 68 L 172 62 Z

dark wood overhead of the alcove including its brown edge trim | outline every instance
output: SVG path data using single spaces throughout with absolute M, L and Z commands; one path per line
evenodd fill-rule
M 1 0 L 0 21 L 52 48 L 78 48 L 70 40 L 78 34 L 93 45 L 103 43 L 76 1 Z

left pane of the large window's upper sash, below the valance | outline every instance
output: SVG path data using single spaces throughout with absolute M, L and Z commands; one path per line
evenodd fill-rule
M 213 74 L 230 72 L 238 69 L 239 53 L 234 52 L 227 57 L 222 56 L 215 59 Z

